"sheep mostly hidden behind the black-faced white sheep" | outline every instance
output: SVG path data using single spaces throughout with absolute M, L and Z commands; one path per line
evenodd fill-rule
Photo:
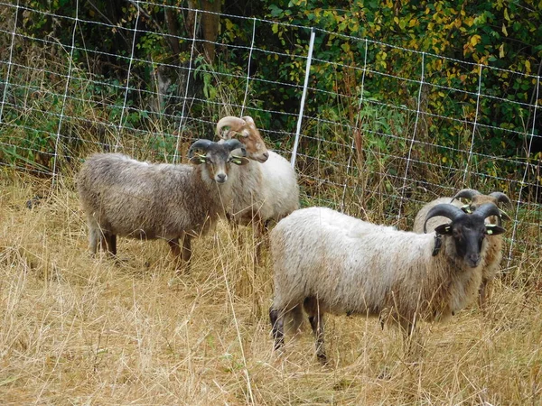
M 471 202 L 468 205 L 463 205 L 462 202 L 457 200 L 458 198 L 469 198 Z M 477 208 L 481 207 L 484 203 L 493 203 L 498 205 L 499 203 L 506 204 L 508 206 L 512 205 L 509 197 L 502 192 L 494 191 L 489 195 L 483 195 L 478 190 L 475 189 L 462 189 L 453 196 L 453 198 L 436 198 L 435 200 L 427 203 L 420 211 L 417 213 L 414 220 L 414 231 L 416 233 L 424 232 L 424 219 L 426 214 L 431 208 L 434 208 L 438 204 L 442 203 L 452 203 L 458 208 L 463 208 L 468 212 L 472 212 Z M 500 222 L 500 218 L 505 220 L 510 220 L 510 217 L 504 212 L 500 211 L 500 217 L 489 217 L 488 221 L 491 223 Z M 435 230 L 436 226 L 440 226 L 447 221 L 445 217 L 433 217 L 429 222 L 427 222 L 427 229 L 430 231 Z M 491 235 L 489 238 L 488 252 L 484 259 L 484 264 L 482 266 L 481 272 L 481 285 L 480 291 L 478 294 L 478 304 L 480 308 L 486 309 L 486 294 L 488 287 L 491 286 L 491 281 L 499 272 L 500 261 L 502 259 L 502 235 Z

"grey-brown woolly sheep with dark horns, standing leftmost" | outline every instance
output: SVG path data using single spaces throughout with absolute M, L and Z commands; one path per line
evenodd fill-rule
M 248 164 L 248 158 L 230 153 L 238 148 L 244 154 L 238 140 L 197 140 L 188 152 L 191 164 L 178 165 L 135 161 L 120 153 L 90 156 L 77 177 L 90 253 L 96 254 L 99 244 L 116 255 L 117 235 L 164 238 L 176 262 L 182 255 L 189 263 L 192 237 L 205 235 L 223 217 L 223 202 L 237 181 L 231 164 Z

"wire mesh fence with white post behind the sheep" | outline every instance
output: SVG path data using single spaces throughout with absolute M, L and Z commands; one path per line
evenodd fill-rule
M 80 14 L 79 2 L 70 15 L 0 3 L 1 165 L 51 176 L 55 182 L 64 169 L 77 170 L 84 154 L 92 151 L 180 162 L 194 138 L 214 136 L 220 116 L 252 115 L 269 123 L 262 127 L 257 120 L 269 145 L 295 165 L 304 204 L 369 219 L 374 219 L 374 210 L 383 215 L 378 220 L 407 227 L 416 210 L 433 198 L 462 188 L 501 190 L 515 206 L 509 259 L 540 246 L 539 76 L 318 27 L 229 14 L 220 14 L 220 21 L 248 27 L 247 32 L 235 42 L 214 42 L 220 55 L 236 58 L 211 65 L 198 51 L 206 42 L 197 23 L 184 36 L 151 30 L 139 23 L 148 20 L 143 7 L 151 4 L 131 4 L 136 9 L 130 27 L 135 28 L 91 21 Z M 176 14 L 194 12 L 154 6 Z M 196 10 L 195 21 L 206 13 Z M 24 29 L 29 21 L 45 20 L 52 26 L 70 25 L 70 36 L 61 41 L 51 28 L 50 36 L 36 38 Z M 121 51 L 89 47 L 83 26 L 116 32 L 125 42 Z M 285 40 L 283 49 L 262 42 L 285 32 L 306 42 Z M 356 49 L 362 60 L 344 64 L 328 58 L 330 38 L 334 47 Z M 149 39 L 173 39 L 189 57 L 182 63 L 156 61 L 151 53 L 142 57 L 139 50 L 149 46 Z M 417 68 L 399 69 L 386 55 Z M 289 67 L 288 73 L 262 69 L 269 60 Z M 444 80 L 450 72 L 457 79 Z M 528 84 L 528 103 L 488 90 L 487 83 L 502 72 L 510 86 Z M 343 85 L 319 80 L 334 76 Z M 395 98 L 374 96 L 381 94 L 383 84 Z M 266 105 L 266 97 L 275 94 L 292 96 L 277 109 Z M 326 100 L 334 107 L 328 108 Z M 525 117 L 524 125 L 495 125 L 487 119 L 494 106 Z M 442 129 L 455 130 L 446 143 L 435 141 Z M 522 148 L 502 155 L 491 152 L 500 151 L 493 143 L 503 143 L 504 150 L 512 138 L 523 140 Z

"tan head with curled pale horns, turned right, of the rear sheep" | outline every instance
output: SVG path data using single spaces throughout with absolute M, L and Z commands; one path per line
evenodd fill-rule
M 221 130 L 224 127 L 229 127 L 229 130 L 222 133 Z M 269 158 L 266 143 L 259 134 L 254 120 L 248 115 L 241 118 L 230 115 L 222 117 L 217 123 L 216 134 L 225 140 L 231 139 L 236 134 L 239 135 L 239 141 L 245 145 L 248 158 L 254 161 L 263 163 Z

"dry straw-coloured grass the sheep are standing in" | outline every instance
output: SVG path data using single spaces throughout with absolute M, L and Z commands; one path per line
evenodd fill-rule
M 248 233 L 197 240 L 170 289 L 163 242 L 89 257 L 70 179 L 29 209 L 49 183 L 0 176 L 1 404 L 542 404 L 539 259 L 497 281 L 488 316 L 422 326 L 416 363 L 376 320 L 329 317 L 322 367 L 308 332 L 272 353 L 271 271 Z

